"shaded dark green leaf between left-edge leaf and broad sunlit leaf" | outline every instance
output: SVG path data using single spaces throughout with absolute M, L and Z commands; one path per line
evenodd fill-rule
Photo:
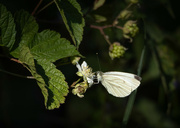
M 20 39 L 16 42 L 14 51 L 11 52 L 11 55 L 18 58 L 19 46 L 29 46 L 32 43 L 35 34 L 38 32 L 38 24 L 36 23 L 34 17 L 24 10 L 16 13 L 15 21 L 17 29 L 19 30 L 18 35 L 20 35 Z

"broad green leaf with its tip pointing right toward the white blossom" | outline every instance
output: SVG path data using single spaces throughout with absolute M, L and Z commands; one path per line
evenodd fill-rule
M 60 38 L 57 32 L 50 30 L 44 30 L 35 36 L 31 52 L 36 58 L 44 58 L 50 62 L 80 55 L 74 45 L 65 38 Z

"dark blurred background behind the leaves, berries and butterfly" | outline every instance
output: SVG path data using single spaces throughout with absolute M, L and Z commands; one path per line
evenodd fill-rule
M 0 0 L 0 3 L 4 4 L 12 14 L 20 9 L 32 13 L 38 2 L 37 0 Z M 40 8 L 48 2 L 43 1 Z M 107 29 L 105 32 L 112 42 L 119 41 L 128 48 L 122 58 L 115 60 L 109 57 L 109 45 L 100 32 L 89 26 L 112 23 L 112 19 L 127 6 L 127 2 L 107 0 L 104 6 L 95 11 L 91 10 L 93 1 L 78 0 L 78 2 L 86 21 L 79 52 L 85 56 L 82 60 L 85 60 L 93 71 L 101 69 L 102 71 L 115 70 L 136 74 L 142 49 L 146 46 L 142 82 L 138 88 L 127 127 L 180 127 L 178 1 L 141 0 L 133 17 L 138 20 L 139 33 L 132 43 L 122 39 L 120 30 Z M 106 16 L 108 20 L 97 24 L 89 18 L 93 14 Z M 62 37 L 71 41 L 55 5 L 35 15 L 35 18 L 39 24 L 39 31 L 55 30 Z M 144 39 L 145 33 L 146 39 Z M 159 58 L 156 58 L 154 54 L 154 47 Z M 3 54 L 2 51 L 0 53 Z M 96 53 L 98 53 L 100 67 Z M 0 68 L 21 75 L 30 75 L 22 65 L 4 57 L 0 57 Z M 78 79 L 75 66 L 68 64 L 59 66 L 58 69 L 64 73 L 69 86 Z M 165 78 L 168 94 L 164 91 L 162 77 Z M 0 72 L 0 127 L 119 128 L 121 126 L 128 97 L 113 97 L 101 84 L 88 89 L 84 98 L 72 95 L 71 88 L 69 90 L 70 93 L 65 103 L 59 109 L 46 110 L 41 90 L 35 80 L 18 78 Z

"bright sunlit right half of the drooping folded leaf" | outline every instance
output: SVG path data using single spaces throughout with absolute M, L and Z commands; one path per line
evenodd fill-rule
M 46 108 L 59 108 L 60 104 L 65 101 L 64 96 L 66 96 L 69 92 L 69 87 L 65 82 L 65 77 L 61 71 L 56 69 L 53 63 L 47 61 L 46 59 L 37 59 L 37 64 L 41 66 L 41 68 L 38 68 L 38 72 L 48 84 L 47 88 L 49 90 L 49 96 Z

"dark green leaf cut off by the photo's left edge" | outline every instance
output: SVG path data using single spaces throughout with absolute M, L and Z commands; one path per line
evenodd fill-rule
M 0 46 L 6 46 L 9 50 L 15 42 L 16 30 L 12 14 L 0 4 Z

